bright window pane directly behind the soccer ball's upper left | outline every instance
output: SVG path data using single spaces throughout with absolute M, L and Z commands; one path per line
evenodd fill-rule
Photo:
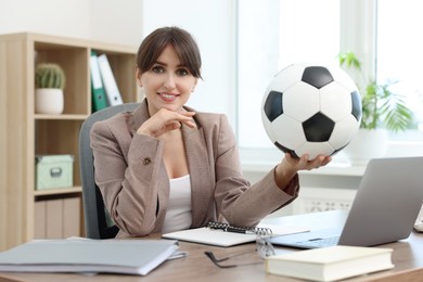
M 240 146 L 273 148 L 259 105 L 280 69 L 297 62 L 333 63 L 338 52 L 338 0 L 239 1 Z

